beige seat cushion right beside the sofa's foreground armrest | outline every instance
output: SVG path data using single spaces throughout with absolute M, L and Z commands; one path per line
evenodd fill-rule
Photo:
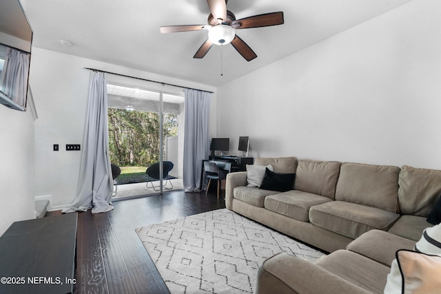
M 316 265 L 369 293 L 383 293 L 387 275 L 391 270 L 388 266 L 347 250 L 334 251 L 320 258 Z

